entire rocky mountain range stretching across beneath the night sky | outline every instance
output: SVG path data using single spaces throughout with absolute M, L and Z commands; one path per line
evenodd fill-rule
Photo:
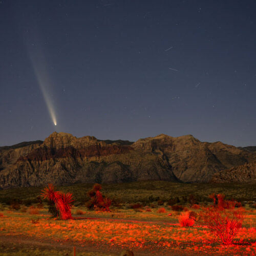
M 192 135 L 130 142 L 54 132 L 45 141 L 0 147 L 0 188 L 143 180 L 255 182 L 255 163 L 254 147 L 201 142 Z

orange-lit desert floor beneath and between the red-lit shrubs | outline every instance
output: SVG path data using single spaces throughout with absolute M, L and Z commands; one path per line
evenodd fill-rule
M 165 185 L 158 182 L 154 186 L 159 190 L 159 186 Z M 136 184 L 130 185 L 130 189 L 132 189 L 131 186 Z M 185 185 L 183 194 L 186 194 L 189 186 L 195 185 Z M 197 193 L 199 193 L 200 185 L 197 187 Z M 110 187 L 106 186 L 105 194 L 109 193 L 108 188 Z M 117 188 L 118 185 L 115 189 L 112 187 L 112 193 L 117 193 Z M 62 189 L 72 190 L 72 187 Z M 223 189 L 227 188 L 223 186 Z M 232 189 L 230 188 L 229 191 Z M 240 189 L 242 193 L 242 188 Z M 30 191 L 30 200 L 33 202 L 40 188 L 27 190 Z M 124 190 L 127 191 L 127 187 Z M 164 198 L 161 200 L 161 196 L 160 199 L 155 198 L 157 201 L 154 197 L 150 197 L 152 202 L 143 201 L 140 198 L 142 191 L 139 199 L 134 198 L 130 202 L 128 199 L 125 202 L 125 197 L 122 196 L 125 195 L 124 190 L 119 188 L 121 198 L 118 200 L 114 200 L 114 194 L 112 194 L 111 211 L 102 211 L 97 208 L 89 210 L 84 203 L 74 202 L 71 220 L 52 217 L 48 212 L 46 201 L 29 204 L 26 201 L 28 196 L 24 200 L 25 204 L 17 201 L 12 201 L 10 204 L 4 203 L 4 195 L 8 190 L 0 191 L 2 200 L 0 255 L 73 255 L 74 247 L 76 255 L 121 255 L 124 250 L 131 250 L 134 255 L 254 255 L 256 253 L 256 209 L 253 201 L 243 201 L 239 207 L 224 209 L 231 215 L 232 212 L 241 210 L 243 216 L 242 226 L 232 243 L 225 245 L 205 223 L 202 223 L 200 218 L 197 218 L 207 210 L 213 209 L 209 208 L 212 205 L 210 200 L 191 204 L 189 199 L 187 202 L 184 201 L 185 194 L 183 195 L 180 190 L 177 196 L 182 199 L 183 195 L 183 201 L 180 200 L 175 204 L 170 202 L 172 200 L 165 201 Z M 134 195 L 135 190 L 136 188 L 133 187 Z M 10 191 L 13 191 L 13 197 L 17 197 L 18 191 L 20 197 L 25 197 L 23 193 L 26 188 Z M 161 192 L 161 189 L 159 191 Z M 172 191 L 175 195 L 174 188 Z M 218 192 L 218 189 L 216 191 Z M 78 193 L 78 190 L 75 192 L 74 187 L 73 193 L 74 195 Z M 102 193 L 104 194 L 104 186 Z M 197 193 L 194 194 L 197 195 Z M 190 196 L 191 198 L 193 197 Z M 193 212 L 190 215 L 195 217 L 190 226 L 184 226 L 180 221 L 180 216 L 186 215 L 185 212 L 187 214 Z

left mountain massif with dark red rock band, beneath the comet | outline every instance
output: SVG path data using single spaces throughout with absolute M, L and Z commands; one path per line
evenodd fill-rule
M 110 144 L 109 144 L 110 143 Z M 95 137 L 76 138 L 54 132 L 45 141 L 26 148 L 9 165 L 1 164 L 0 186 L 41 186 L 48 183 L 120 183 L 138 180 L 177 181 L 166 159 L 136 152 L 123 141 L 114 143 Z M 24 148 L 25 149 L 25 148 Z M 13 150 L 2 155 L 12 155 Z

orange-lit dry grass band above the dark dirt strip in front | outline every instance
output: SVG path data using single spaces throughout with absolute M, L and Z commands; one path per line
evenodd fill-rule
M 201 211 L 200 209 L 199 211 Z M 195 223 L 193 227 L 181 227 L 173 210 L 159 214 L 158 209 L 151 212 L 135 212 L 133 209 L 119 209 L 112 212 L 86 212 L 90 219 L 58 220 L 52 219 L 47 210 L 38 215 L 38 222 L 32 223 L 28 213 L 4 210 L 6 218 L 0 218 L 0 234 L 16 234 L 31 239 L 48 238 L 52 243 L 93 243 L 105 246 L 129 247 L 141 250 L 156 248 L 182 250 L 184 254 L 229 254 L 253 255 L 256 246 L 256 210 L 245 211 L 244 226 L 235 238 L 235 244 L 224 247 L 206 226 Z M 172 214 L 172 216 L 168 216 Z M 183 214 L 183 213 L 182 213 Z M 187 214 L 187 212 L 184 212 Z M 92 219 L 92 217 L 97 219 Z M 113 218 L 115 220 L 113 220 Z M 104 255 L 102 253 L 102 255 Z

